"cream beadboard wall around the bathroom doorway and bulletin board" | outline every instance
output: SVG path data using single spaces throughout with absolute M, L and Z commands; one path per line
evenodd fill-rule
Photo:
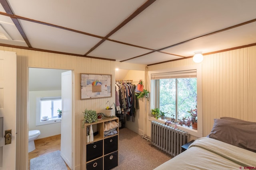
M 106 102 L 115 101 L 114 86 L 111 98 L 80 100 L 80 73 L 112 74 L 112 84 L 115 83 L 115 68 L 144 70 L 142 64 L 125 64 L 115 61 L 90 59 L 70 55 L 30 51 L 11 47 L 0 47 L 3 51 L 14 51 L 17 55 L 17 132 L 16 167 L 28 169 L 28 67 L 58 68 L 74 72 L 74 169 L 80 170 L 80 139 L 81 120 L 84 109 L 94 109 L 103 112 Z

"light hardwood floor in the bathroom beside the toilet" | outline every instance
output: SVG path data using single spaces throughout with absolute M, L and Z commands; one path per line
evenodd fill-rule
M 36 149 L 28 153 L 28 170 L 30 170 L 30 159 L 36 158 L 42 154 L 60 150 L 60 135 L 35 140 L 35 146 Z M 67 168 L 70 170 L 68 166 Z

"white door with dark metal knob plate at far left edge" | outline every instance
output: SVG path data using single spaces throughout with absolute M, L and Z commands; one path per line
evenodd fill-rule
M 0 170 L 15 170 L 16 75 L 16 53 L 0 51 Z M 11 144 L 5 145 L 8 129 L 12 130 L 12 139 Z

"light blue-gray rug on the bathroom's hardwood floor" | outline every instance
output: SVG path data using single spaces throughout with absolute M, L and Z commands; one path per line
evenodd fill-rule
M 30 170 L 67 170 L 60 150 L 30 159 Z

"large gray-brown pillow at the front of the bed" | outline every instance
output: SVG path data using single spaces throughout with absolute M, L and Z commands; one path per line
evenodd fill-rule
M 256 124 L 228 119 L 214 119 L 209 137 L 256 152 Z

